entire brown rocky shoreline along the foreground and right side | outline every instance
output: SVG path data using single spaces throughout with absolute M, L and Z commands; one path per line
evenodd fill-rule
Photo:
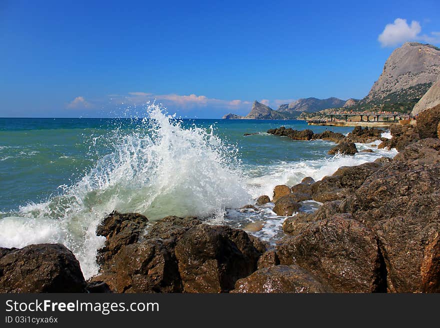
M 272 201 L 273 211 L 287 217 L 285 237 L 274 247 L 193 217 L 151 224 L 140 214 L 113 212 L 96 229 L 106 238 L 98 275 L 85 281 L 63 245 L 0 248 L 0 292 L 440 292 L 440 110 L 423 113 L 416 127 L 396 125 L 392 138 L 382 140 L 379 147 L 399 150 L 394 159 L 341 167 L 320 181 L 305 178 L 259 197 L 256 205 Z M 381 133 L 269 131 L 339 145 Z M 304 200 L 323 205 L 292 217 Z

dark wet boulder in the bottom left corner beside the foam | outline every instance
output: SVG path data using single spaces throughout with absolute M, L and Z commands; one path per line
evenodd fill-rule
M 64 245 L 0 248 L 0 293 L 83 293 L 79 262 Z

